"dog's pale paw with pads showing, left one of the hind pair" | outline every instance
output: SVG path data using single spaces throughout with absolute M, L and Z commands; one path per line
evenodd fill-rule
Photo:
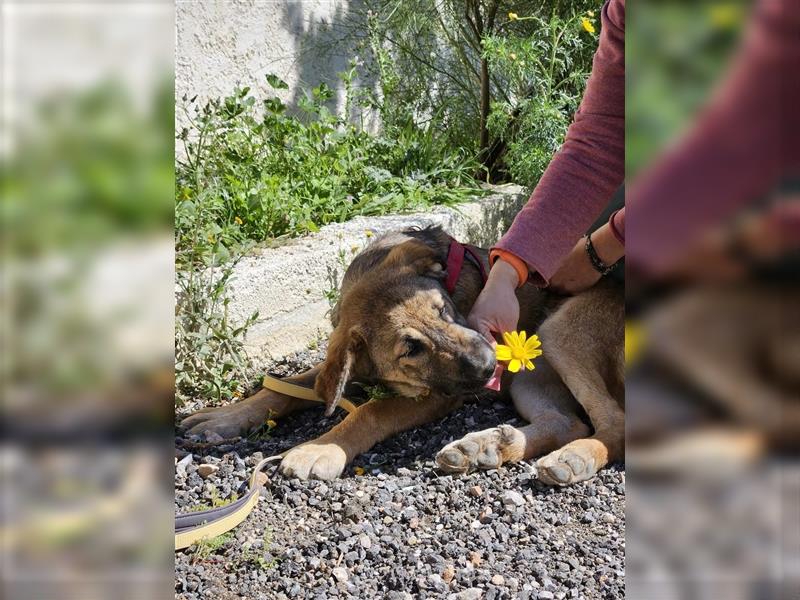
M 447 444 L 436 455 L 436 464 L 448 473 L 496 469 L 504 462 L 520 460 L 524 451 L 524 434 L 511 425 L 500 425 Z

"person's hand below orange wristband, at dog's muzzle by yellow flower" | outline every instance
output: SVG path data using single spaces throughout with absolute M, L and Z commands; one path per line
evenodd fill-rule
M 489 279 L 467 317 L 469 326 L 495 346 L 492 332 L 515 331 L 519 321 L 516 289 L 519 275 L 513 266 L 498 260 L 489 271 Z

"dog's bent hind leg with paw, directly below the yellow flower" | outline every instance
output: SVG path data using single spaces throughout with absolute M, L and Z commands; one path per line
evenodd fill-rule
M 439 468 L 451 473 L 496 469 L 507 462 L 550 452 L 589 433 L 575 415 L 574 398 L 544 361 L 535 371 L 514 376 L 511 397 L 517 412 L 530 425 L 500 425 L 468 433 L 436 455 Z

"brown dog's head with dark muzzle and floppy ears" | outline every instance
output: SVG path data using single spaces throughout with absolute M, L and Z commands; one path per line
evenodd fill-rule
M 328 411 L 350 379 L 379 381 L 402 396 L 477 390 L 492 375 L 492 347 L 467 327 L 444 290 L 444 265 L 424 242 L 389 251 L 343 290 L 316 392 Z

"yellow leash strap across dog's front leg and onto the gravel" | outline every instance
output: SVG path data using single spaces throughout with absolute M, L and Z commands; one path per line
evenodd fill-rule
M 324 403 L 324 400 L 317 397 L 313 389 L 295 383 L 289 383 L 288 381 L 272 377 L 271 375 L 266 375 L 264 377 L 263 385 L 268 390 L 278 392 L 279 394 L 285 394 L 301 400 L 313 400 L 314 402 Z M 353 412 L 357 408 L 356 405 L 347 398 L 342 398 L 338 406 L 341 406 L 348 413 Z M 247 494 L 235 502 L 208 510 L 175 515 L 175 550 L 187 548 L 202 539 L 215 538 L 226 531 L 230 531 L 244 521 L 258 503 L 258 497 L 261 491 L 261 486 L 258 485 L 257 481 L 258 474 L 268 463 L 281 460 L 282 458 L 283 455 L 278 454 L 265 458 L 258 463 L 253 470 L 253 474 L 250 476 L 250 486 Z

